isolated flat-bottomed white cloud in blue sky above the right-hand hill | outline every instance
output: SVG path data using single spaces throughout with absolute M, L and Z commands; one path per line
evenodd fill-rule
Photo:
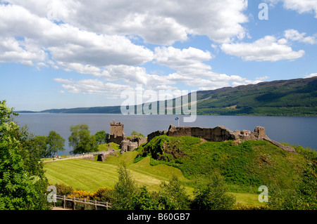
M 285 39 L 277 40 L 273 36 L 266 36 L 253 43 L 222 44 L 221 49 L 243 60 L 255 61 L 295 60 L 304 55 L 303 50 L 293 51 L 286 44 Z

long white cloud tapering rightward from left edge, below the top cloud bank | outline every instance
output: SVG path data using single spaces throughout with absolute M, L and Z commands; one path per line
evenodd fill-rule
M 30 54 L 35 52 L 31 47 L 49 51 L 53 60 L 66 65 L 142 65 L 153 58 L 152 51 L 144 46 L 132 44 L 126 37 L 87 32 L 69 24 L 56 25 L 21 6 L 0 5 L 0 20 L 2 39 L 25 39 L 19 41 L 19 45 L 23 45 L 23 55 L 18 48 L 15 48 L 16 51 L 5 51 L 3 48 L 1 53 L 5 56 L 2 57 L 2 61 L 6 61 L 6 58 L 7 61 L 11 61 L 11 57 L 18 54 L 18 58 L 28 57 L 30 60 L 24 61 L 32 62 L 35 57 Z

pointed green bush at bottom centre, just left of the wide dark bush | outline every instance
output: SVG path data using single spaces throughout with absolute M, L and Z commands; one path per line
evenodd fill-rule
M 189 209 L 189 197 L 185 187 L 182 186 L 177 176 L 173 176 L 168 183 L 161 182 L 159 191 L 159 207 L 164 210 Z

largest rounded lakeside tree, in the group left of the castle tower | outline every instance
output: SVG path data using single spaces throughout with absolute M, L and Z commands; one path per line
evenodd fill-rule
M 96 152 L 97 142 L 95 136 L 90 136 L 89 126 L 87 124 L 78 124 L 70 126 L 72 132 L 68 138 L 70 147 L 73 147 L 73 154 L 84 152 Z

